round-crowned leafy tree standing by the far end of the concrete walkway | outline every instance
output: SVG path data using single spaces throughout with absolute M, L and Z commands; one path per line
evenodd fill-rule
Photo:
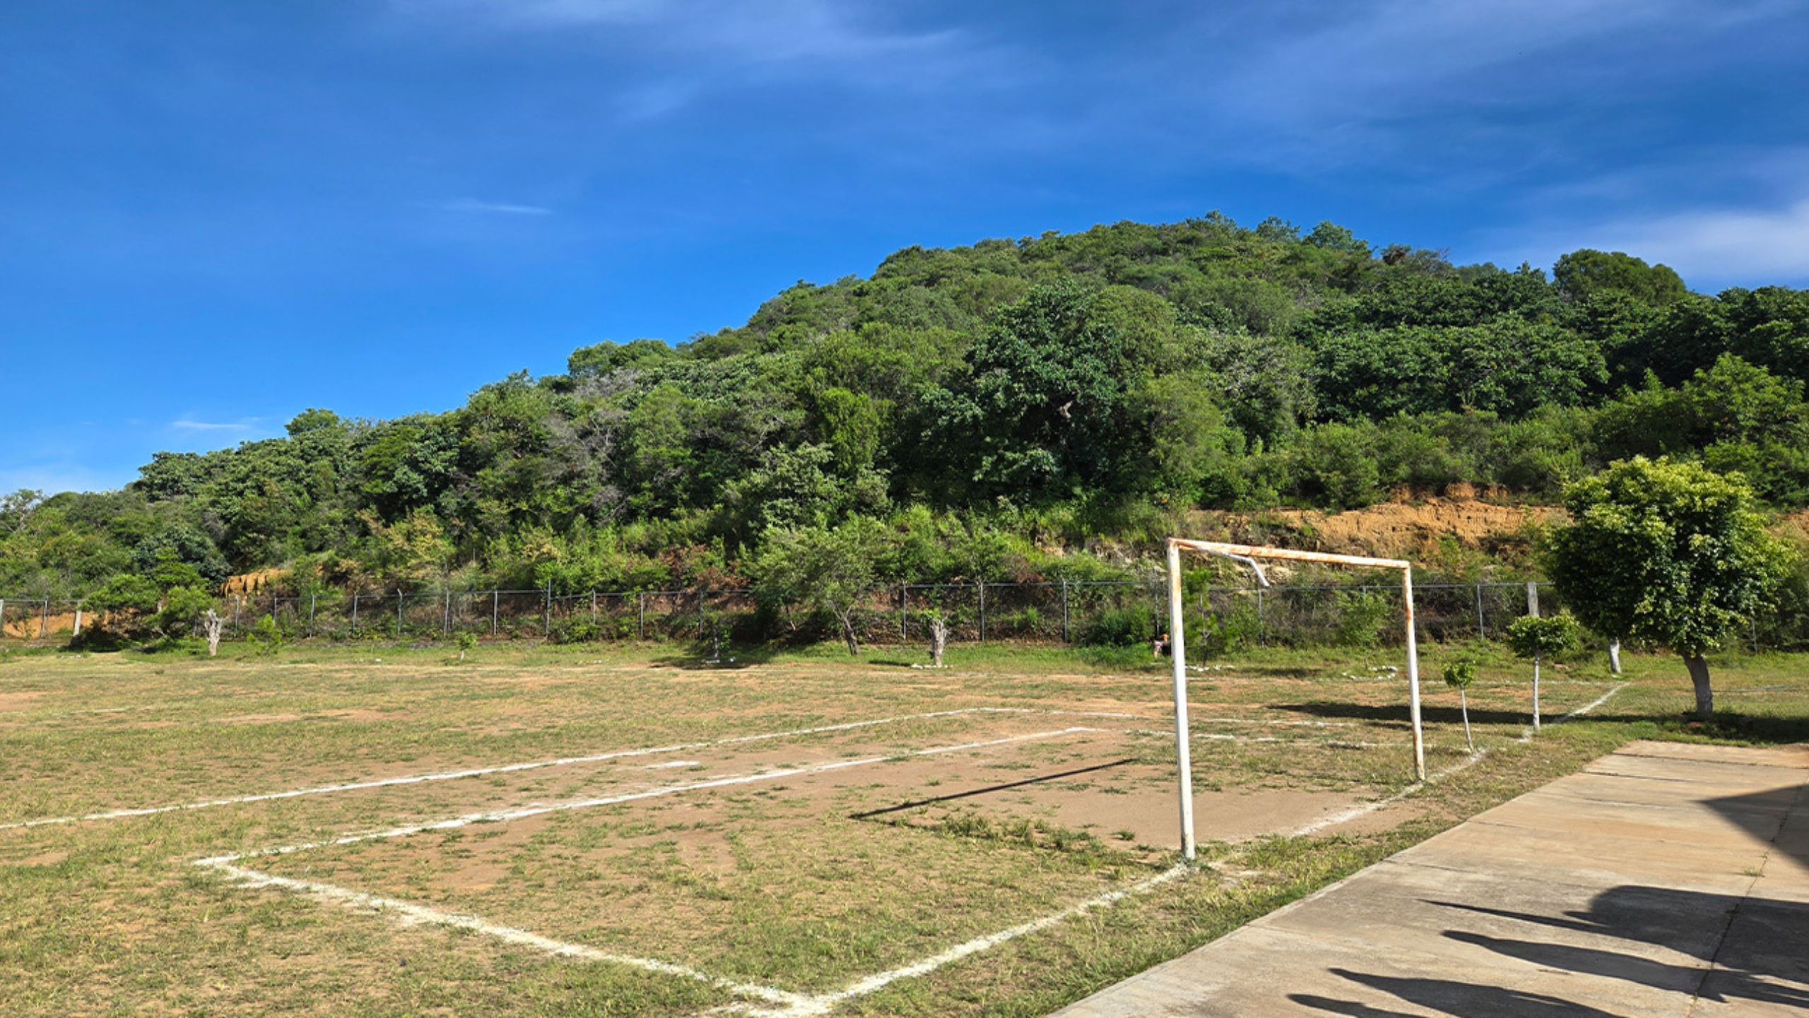
M 1766 533 L 1753 490 L 1688 461 L 1635 456 L 1565 488 L 1570 524 L 1552 532 L 1549 571 L 1597 633 L 1682 656 L 1697 714 L 1715 698 L 1704 655 L 1784 577 L 1789 548 Z

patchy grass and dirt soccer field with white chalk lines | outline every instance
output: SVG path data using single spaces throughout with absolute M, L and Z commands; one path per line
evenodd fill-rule
M 1161 665 L 597 653 L 7 660 L 0 1013 L 1035 1014 L 1686 693 L 1556 671 L 1530 740 L 1498 664 L 1471 754 L 1429 685 L 1415 787 L 1389 651 L 1203 669 L 1181 866 Z M 1802 682 L 1722 674 L 1800 714 Z

